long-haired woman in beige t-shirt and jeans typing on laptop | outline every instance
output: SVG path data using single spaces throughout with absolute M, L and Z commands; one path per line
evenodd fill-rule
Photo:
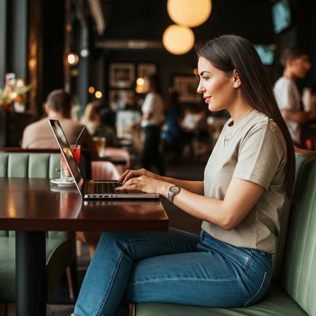
M 200 238 L 172 228 L 103 233 L 74 315 L 128 315 L 128 304 L 144 301 L 246 307 L 268 289 L 284 201 L 292 197 L 293 143 L 248 40 L 218 37 L 198 57 L 198 92 L 210 111 L 227 109 L 232 117 L 204 181 L 144 169 L 126 171 L 119 181 L 121 190 L 160 193 L 203 219 Z

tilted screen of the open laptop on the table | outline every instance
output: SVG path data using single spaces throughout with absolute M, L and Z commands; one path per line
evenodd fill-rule
M 70 146 L 68 144 L 68 141 L 66 139 L 64 131 L 62 130 L 62 128 L 57 120 L 50 119 L 49 124 L 51 125 L 52 131 L 55 135 L 55 138 L 56 138 L 57 143 L 59 145 L 59 148 L 62 152 L 62 155 L 64 156 L 64 159 L 65 159 L 67 166 L 70 170 L 72 178 L 74 179 L 76 186 L 81 194 L 80 187 L 82 186 L 84 179 L 83 179 L 82 174 L 80 172 L 77 161 L 76 161 L 74 155 L 72 154 L 72 151 L 70 149 Z M 62 172 L 62 170 L 60 172 Z

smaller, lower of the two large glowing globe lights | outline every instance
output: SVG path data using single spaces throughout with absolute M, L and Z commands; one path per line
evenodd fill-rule
M 163 46 L 174 55 L 183 55 L 194 45 L 194 33 L 191 28 L 172 24 L 162 35 Z

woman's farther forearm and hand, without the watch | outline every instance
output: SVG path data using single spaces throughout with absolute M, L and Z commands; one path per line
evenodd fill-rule
M 156 180 L 166 182 L 169 184 L 172 183 L 173 185 L 181 186 L 181 188 L 184 188 L 185 190 L 190 191 L 195 194 L 204 195 L 204 181 L 185 181 L 185 180 L 162 177 L 144 168 L 139 169 L 139 170 L 126 170 L 119 178 L 119 183 L 125 184 L 128 180 L 132 178 L 141 177 L 143 175 L 151 179 L 156 179 Z

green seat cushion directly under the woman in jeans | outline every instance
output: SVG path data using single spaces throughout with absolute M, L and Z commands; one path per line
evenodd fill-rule
M 192 293 L 192 295 L 194 295 Z M 134 316 L 308 316 L 272 279 L 262 300 L 245 308 L 210 308 L 168 303 L 137 303 Z

